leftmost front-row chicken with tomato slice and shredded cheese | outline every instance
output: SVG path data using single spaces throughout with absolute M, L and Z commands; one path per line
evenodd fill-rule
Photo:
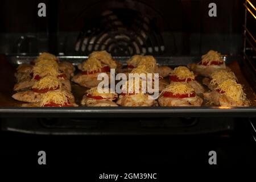
M 76 107 L 75 98 L 66 90 L 53 90 L 41 94 L 39 102 L 23 104 L 23 107 Z

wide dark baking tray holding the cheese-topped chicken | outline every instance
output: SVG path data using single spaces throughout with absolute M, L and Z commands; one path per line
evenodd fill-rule
M 250 107 L 19 107 L 22 102 L 11 98 L 15 84 L 15 67 L 19 64 L 30 63 L 36 56 L 0 55 L 0 117 L 256 117 L 255 90 L 251 88 L 240 69 L 239 57 L 224 56 L 226 64 L 238 77 L 243 85 Z M 59 56 L 60 61 L 69 61 L 74 65 L 82 63 L 87 56 Z M 125 63 L 129 57 L 114 57 Z M 156 57 L 161 65 L 176 67 L 197 63 L 200 56 L 168 56 Z M 72 84 L 72 93 L 80 103 L 86 89 Z

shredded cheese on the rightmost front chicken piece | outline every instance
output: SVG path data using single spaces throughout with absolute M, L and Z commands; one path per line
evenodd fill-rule
M 243 92 L 242 85 L 237 84 L 235 80 L 229 79 L 221 82 L 217 89 L 224 92 L 226 96 L 229 96 L 234 101 L 246 100 L 246 94 Z

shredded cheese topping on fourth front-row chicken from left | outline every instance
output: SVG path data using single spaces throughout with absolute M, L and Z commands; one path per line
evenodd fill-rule
M 167 85 L 167 87 L 163 89 L 162 93 L 163 92 L 171 92 L 174 95 L 188 94 L 189 96 L 189 94 L 195 92 L 195 90 L 186 82 L 171 82 L 170 85 Z

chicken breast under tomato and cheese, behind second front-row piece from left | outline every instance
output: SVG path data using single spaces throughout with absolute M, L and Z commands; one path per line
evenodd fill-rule
M 84 86 L 87 88 L 92 88 L 94 86 L 97 86 L 102 81 L 102 80 L 97 80 L 97 77 L 99 74 L 100 73 L 94 73 L 94 74 L 90 74 L 90 75 L 82 75 L 82 73 L 79 73 L 72 78 L 72 81 L 81 86 Z M 110 73 L 107 73 L 107 74 L 110 79 Z

